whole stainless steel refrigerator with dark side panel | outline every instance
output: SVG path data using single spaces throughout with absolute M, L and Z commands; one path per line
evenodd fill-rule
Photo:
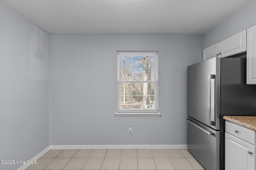
M 188 66 L 188 150 L 206 170 L 224 170 L 224 115 L 256 115 L 246 53 Z

